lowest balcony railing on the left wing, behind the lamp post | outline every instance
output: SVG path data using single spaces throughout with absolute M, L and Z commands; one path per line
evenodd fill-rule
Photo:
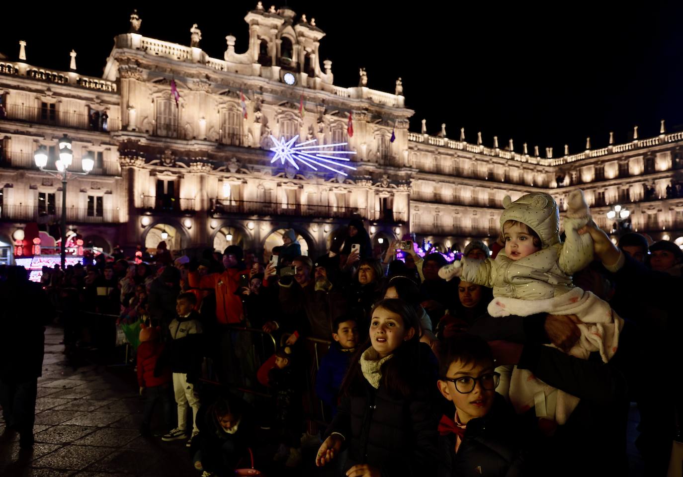
M 36 205 L 1 205 L 0 219 L 2 220 L 25 220 L 27 222 L 59 222 L 61 220 L 61 207 L 49 206 L 38 207 Z M 68 222 L 83 222 L 92 224 L 116 223 L 118 211 L 116 209 L 80 209 L 77 207 L 66 208 L 66 220 Z

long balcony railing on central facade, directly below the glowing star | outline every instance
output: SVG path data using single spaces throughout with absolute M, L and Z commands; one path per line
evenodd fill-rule
M 387 220 L 405 222 L 406 214 L 392 210 L 370 211 L 360 207 L 337 207 L 335 205 L 283 204 L 259 201 L 232 201 L 229 199 L 212 199 L 210 214 L 222 216 L 227 214 L 247 214 L 266 216 L 301 216 L 320 218 L 352 218 L 360 217 L 368 220 Z

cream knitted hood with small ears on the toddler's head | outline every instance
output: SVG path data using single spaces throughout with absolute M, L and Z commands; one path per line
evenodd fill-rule
M 507 220 L 516 220 L 538 234 L 542 248 L 559 242 L 559 211 L 555 199 L 549 194 L 533 192 L 522 195 L 514 202 L 506 195 L 503 207 L 505 210 L 501 214 L 501 230 Z

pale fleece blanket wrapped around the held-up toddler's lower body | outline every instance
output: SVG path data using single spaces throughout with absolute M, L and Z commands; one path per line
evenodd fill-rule
M 617 352 L 619 332 L 624 326 L 624 320 L 607 302 L 580 288 L 546 300 L 494 298 L 488 304 L 488 313 L 494 317 L 528 316 L 535 313 L 576 315 L 583 321 L 578 325 L 581 338 L 569 353 L 585 360 L 590 353 L 599 351 L 603 362 L 608 362 Z M 537 416 L 565 424 L 579 404 L 579 398 L 548 386 L 530 371 L 514 366 L 510 377 L 510 403 L 518 413 L 535 406 Z

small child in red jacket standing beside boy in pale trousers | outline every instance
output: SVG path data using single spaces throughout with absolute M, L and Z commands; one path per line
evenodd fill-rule
M 158 328 L 140 326 L 140 346 L 137 349 L 137 382 L 140 395 L 145 394 L 145 409 L 142 415 L 140 434 L 150 435 L 150 424 L 156 401 L 161 401 L 164 409 L 165 431 L 173 427 L 173 399 L 171 368 L 154 372 L 156 361 L 161 356 L 164 344 L 158 340 Z

